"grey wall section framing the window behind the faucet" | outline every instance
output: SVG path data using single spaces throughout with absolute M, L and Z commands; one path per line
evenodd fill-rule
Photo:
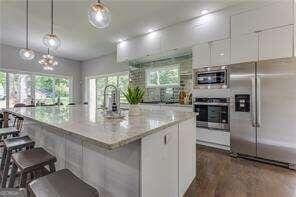
M 85 78 L 97 75 L 106 75 L 112 73 L 129 71 L 127 63 L 117 63 L 116 53 L 105 55 L 99 58 L 83 61 L 81 63 L 82 71 L 82 98 L 85 98 Z M 86 98 L 85 98 L 86 99 Z

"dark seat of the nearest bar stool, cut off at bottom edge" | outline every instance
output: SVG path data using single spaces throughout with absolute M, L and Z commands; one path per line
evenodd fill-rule
M 99 197 L 98 191 L 63 169 L 38 178 L 28 185 L 28 191 L 35 197 Z

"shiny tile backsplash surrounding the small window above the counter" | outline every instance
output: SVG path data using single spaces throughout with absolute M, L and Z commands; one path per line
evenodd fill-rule
M 151 67 L 180 65 L 180 85 L 168 87 L 146 87 L 145 70 Z M 130 63 L 130 84 L 146 89 L 144 102 L 179 102 L 180 90 L 192 92 L 192 55 L 145 63 Z

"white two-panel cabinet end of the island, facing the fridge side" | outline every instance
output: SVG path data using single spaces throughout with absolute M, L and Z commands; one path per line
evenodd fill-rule
M 194 119 L 142 139 L 141 196 L 182 197 L 196 176 Z

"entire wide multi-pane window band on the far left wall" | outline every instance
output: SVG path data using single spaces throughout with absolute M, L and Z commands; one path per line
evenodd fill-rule
M 68 104 L 71 78 L 0 71 L 0 108 L 17 103 Z

